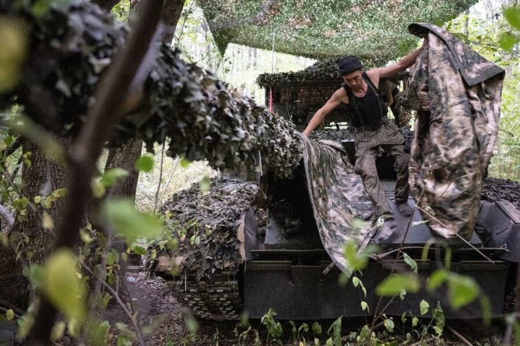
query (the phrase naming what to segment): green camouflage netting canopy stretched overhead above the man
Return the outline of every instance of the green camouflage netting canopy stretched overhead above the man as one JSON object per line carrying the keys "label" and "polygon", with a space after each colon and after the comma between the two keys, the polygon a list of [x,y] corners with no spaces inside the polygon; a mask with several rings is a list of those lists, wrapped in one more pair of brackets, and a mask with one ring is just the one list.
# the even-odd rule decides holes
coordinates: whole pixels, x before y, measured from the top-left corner
{"label": "green camouflage netting canopy stretched overhead above the man", "polygon": [[381,66],[416,39],[412,22],[443,23],[476,0],[199,0],[221,52],[228,43],[309,58],[354,54]]}

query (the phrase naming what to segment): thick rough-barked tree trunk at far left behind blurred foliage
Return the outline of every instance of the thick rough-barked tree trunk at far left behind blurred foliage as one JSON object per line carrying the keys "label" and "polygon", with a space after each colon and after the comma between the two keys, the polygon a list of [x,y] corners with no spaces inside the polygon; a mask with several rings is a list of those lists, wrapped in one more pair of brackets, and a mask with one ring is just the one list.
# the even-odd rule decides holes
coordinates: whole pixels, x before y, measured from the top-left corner
{"label": "thick rough-barked tree trunk at far left behind blurred foliage", "polygon": [[[70,140],[62,140],[62,143],[69,143]],[[47,160],[42,151],[33,143],[24,141],[23,153],[30,152],[29,159],[31,164],[24,162],[22,169],[22,190],[21,193],[36,206],[33,210],[27,206],[27,216],[25,220],[16,220],[10,232],[14,240],[10,243],[9,249],[2,251],[0,256],[0,297],[9,301],[19,308],[27,308],[29,301],[29,283],[23,276],[23,267],[31,263],[41,264],[47,258],[50,250],[50,243],[54,237],[49,231],[43,229],[42,214],[47,212],[56,221],[62,199],[58,199],[51,204],[50,208],[43,209],[38,203],[34,203],[36,196],[48,196],[58,188],[65,186],[66,170],[60,164]],[[41,199],[43,200],[43,199]],[[78,215],[78,217],[81,217]],[[23,242],[21,260],[16,260],[14,248],[27,236],[28,243]]]}

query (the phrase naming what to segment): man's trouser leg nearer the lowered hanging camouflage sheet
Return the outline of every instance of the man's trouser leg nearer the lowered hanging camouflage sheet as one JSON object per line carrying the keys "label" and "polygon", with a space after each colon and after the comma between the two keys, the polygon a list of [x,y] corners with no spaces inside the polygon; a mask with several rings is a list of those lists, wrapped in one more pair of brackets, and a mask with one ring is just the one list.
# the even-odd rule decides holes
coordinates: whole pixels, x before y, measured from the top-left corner
{"label": "man's trouser leg nearer the lowered hanging camouflage sheet", "polygon": [[377,158],[377,147],[358,148],[356,151],[355,173],[361,175],[366,193],[374,205],[377,217],[386,215],[392,217],[392,210],[386,200],[385,189],[379,182],[375,160]]}

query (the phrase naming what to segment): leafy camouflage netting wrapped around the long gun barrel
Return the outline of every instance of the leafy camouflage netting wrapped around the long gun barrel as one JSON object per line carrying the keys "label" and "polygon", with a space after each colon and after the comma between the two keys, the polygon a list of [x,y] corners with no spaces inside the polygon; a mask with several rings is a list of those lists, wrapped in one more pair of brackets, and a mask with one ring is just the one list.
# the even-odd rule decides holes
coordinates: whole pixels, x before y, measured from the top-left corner
{"label": "leafy camouflage netting wrapped around the long gun barrel", "polygon": [[[1,5],[0,5],[1,6]],[[0,13],[24,18],[30,49],[19,90],[0,95],[0,108],[12,97],[27,114],[60,134],[76,134],[84,121],[100,75],[123,44],[128,29],[113,16],[84,1],[54,3],[35,16],[29,9],[2,8]],[[182,61],[160,44],[159,55],[145,82],[145,104],[121,121],[111,136],[115,145],[143,138],[149,149],[174,135],[168,154],[205,157],[214,168],[237,171],[272,170],[285,177],[300,160],[294,125],[228,90],[213,73]],[[32,99],[46,112],[31,111]]]}

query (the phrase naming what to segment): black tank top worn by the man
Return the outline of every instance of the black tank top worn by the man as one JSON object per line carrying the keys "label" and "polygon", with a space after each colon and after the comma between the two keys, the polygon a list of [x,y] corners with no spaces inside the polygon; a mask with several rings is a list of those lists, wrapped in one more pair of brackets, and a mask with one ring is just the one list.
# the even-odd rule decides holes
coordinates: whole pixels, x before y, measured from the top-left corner
{"label": "black tank top worn by the man", "polygon": [[[379,90],[372,83],[368,75],[366,73],[362,74],[363,79],[366,84],[372,84],[373,88],[368,85],[366,90],[366,94],[364,97],[356,97],[351,88],[349,88],[345,83],[341,86],[345,89],[348,95],[348,104],[346,104],[346,112],[348,117],[350,118],[351,125],[354,127],[360,127],[365,125],[371,125],[377,123],[385,114],[383,112],[386,110],[386,105],[381,99],[381,95],[379,94]],[[374,92],[374,90],[377,92]],[[359,108],[359,115],[362,116],[362,119],[359,119],[357,111],[353,106],[352,97],[355,99],[355,104],[357,108]]]}

